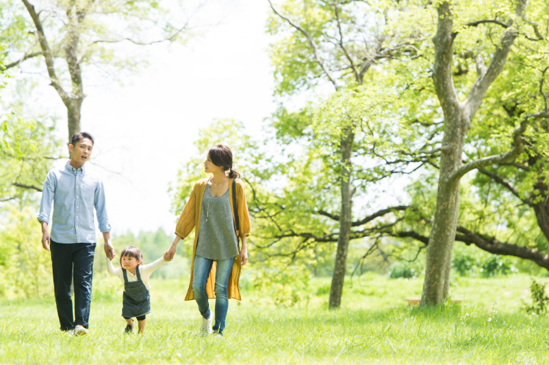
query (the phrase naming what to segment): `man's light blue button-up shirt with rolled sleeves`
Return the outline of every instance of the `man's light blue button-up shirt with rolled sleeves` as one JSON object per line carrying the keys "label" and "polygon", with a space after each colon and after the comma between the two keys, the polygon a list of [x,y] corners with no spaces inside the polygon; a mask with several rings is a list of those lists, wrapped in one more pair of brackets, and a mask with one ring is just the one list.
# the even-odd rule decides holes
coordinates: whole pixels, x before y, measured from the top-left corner
{"label": "man's light blue button-up shirt with rolled sleeves", "polygon": [[95,243],[94,207],[101,232],[110,232],[111,225],[105,207],[105,188],[85,164],[74,168],[68,162],[62,168],[49,171],[38,221],[49,225],[53,201],[51,240],[58,243]]}

